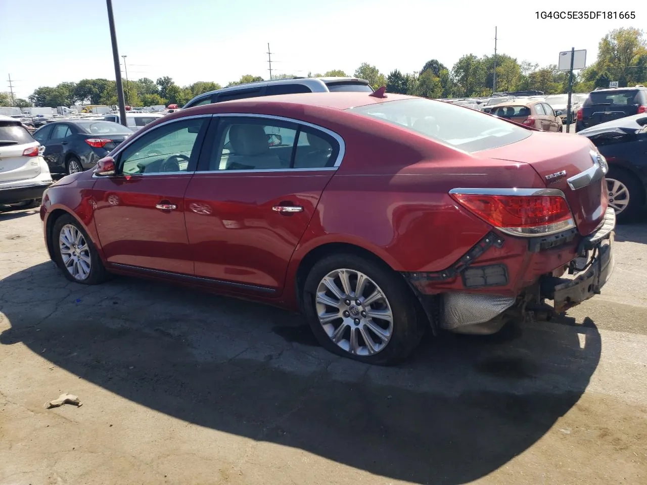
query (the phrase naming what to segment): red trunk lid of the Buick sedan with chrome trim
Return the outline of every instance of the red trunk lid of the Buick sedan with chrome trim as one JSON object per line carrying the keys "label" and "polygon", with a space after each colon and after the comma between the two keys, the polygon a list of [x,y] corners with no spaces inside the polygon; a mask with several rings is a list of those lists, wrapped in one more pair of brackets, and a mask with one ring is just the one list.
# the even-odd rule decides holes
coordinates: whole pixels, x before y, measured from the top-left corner
{"label": "red trunk lid of the Buick sedan with chrome trim", "polygon": [[564,192],[578,231],[587,235],[602,222],[608,205],[604,177],[576,189],[572,189],[567,180],[588,169],[593,170],[592,150],[595,151],[595,147],[584,136],[533,132],[525,140],[482,151],[479,155],[529,164],[547,188]]}

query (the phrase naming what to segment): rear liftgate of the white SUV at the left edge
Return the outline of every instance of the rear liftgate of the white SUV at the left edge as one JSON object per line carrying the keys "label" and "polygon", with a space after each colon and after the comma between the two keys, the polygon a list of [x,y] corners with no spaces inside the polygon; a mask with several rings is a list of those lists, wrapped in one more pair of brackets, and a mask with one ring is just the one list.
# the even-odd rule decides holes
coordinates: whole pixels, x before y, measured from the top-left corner
{"label": "rear liftgate of the white SUV at the left edge", "polygon": [[0,184],[40,175],[38,156],[23,156],[38,142],[19,121],[0,120]]}

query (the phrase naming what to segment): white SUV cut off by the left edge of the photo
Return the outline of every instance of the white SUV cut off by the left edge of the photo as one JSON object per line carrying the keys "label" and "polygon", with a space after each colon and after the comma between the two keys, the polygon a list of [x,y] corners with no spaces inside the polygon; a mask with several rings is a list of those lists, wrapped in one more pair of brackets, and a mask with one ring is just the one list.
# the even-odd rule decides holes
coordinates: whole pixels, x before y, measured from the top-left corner
{"label": "white SUV cut off by the left edge of the photo", "polygon": [[43,151],[20,120],[0,115],[0,211],[40,205],[52,184]]}

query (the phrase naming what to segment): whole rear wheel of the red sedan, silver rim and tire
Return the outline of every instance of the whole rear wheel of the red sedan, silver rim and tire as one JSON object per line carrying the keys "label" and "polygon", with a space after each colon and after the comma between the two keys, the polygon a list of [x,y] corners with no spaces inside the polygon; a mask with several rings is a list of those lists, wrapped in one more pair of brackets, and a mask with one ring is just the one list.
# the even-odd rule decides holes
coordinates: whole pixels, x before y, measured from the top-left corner
{"label": "whole rear wheel of the red sedan, silver rim and tire", "polygon": [[356,255],[330,255],[316,263],[303,299],[322,347],[353,360],[398,363],[415,349],[424,331],[404,279],[386,265]]}

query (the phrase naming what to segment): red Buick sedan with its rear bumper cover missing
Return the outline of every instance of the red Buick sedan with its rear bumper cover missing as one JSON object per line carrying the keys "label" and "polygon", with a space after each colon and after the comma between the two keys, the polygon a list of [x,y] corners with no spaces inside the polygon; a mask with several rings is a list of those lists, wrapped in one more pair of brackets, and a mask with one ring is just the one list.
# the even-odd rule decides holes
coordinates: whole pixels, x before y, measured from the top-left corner
{"label": "red Buick sedan with its rear bumper cover missing", "polygon": [[52,185],[41,219],[71,281],[139,275],[302,311],[323,347],[389,364],[428,328],[492,333],[599,293],[606,170],[583,136],[450,103],[289,94],[147,125]]}

